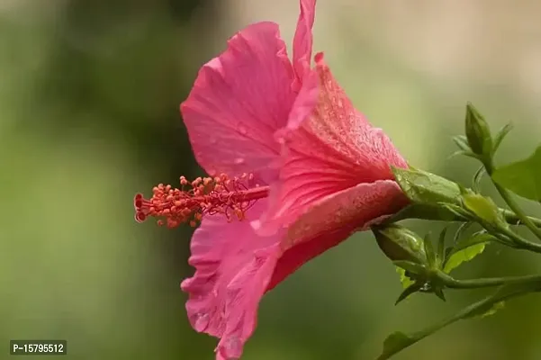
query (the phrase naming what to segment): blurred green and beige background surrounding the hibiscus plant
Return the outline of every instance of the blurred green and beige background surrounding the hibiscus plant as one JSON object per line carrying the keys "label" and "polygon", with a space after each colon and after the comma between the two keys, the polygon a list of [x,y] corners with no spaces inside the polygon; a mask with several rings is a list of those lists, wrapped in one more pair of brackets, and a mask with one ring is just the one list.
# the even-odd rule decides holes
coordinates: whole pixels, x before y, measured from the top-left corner
{"label": "blurred green and beige background surrounding the hibiscus plant", "polygon": [[[540,12],[527,0],[320,0],[315,49],[412,165],[469,184],[476,164],[448,158],[466,101],[493,129],[515,122],[501,162],[540,138]],[[10,338],[65,338],[71,359],[213,359],[179,290],[190,229],[137,224],[132,196],[202,175],[178,113],[198,68],[248,23],[280,23],[291,44],[297,14],[294,0],[0,0],[0,358]],[[540,265],[490,247],[456,274]],[[371,234],[357,234],[266,295],[243,358],[373,359],[392,331],[482,296],[395,307],[400,292]],[[540,301],[459,322],[396,359],[540,359]]]}

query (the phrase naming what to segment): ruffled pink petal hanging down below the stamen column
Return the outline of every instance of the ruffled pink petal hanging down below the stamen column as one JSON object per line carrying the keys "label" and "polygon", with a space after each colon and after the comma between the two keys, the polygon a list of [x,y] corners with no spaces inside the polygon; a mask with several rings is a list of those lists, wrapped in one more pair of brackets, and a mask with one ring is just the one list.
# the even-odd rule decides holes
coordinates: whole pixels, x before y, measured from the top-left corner
{"label": "ruffled pink petal hanging down below the stamen column", "polygon": [[[257,218],[266,201],[248,211]],[[189,293],[186,311],[192,327],[221,341],[217,359],[238,358],[256,327],[257,306],[280,256],[280,235],[258,237],[248,221],[227,222],[224,217],[203,219],[191,242],[195,267],[181,288]]]}

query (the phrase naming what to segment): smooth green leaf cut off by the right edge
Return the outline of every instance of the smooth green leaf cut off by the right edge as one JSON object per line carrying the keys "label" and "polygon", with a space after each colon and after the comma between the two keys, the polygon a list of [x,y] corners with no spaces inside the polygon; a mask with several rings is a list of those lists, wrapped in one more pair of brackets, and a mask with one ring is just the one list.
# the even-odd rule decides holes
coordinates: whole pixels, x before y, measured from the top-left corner
{"label": "smooth green leaf cut off by the right edge", "polygon": [[541,202],[541,146],[524,160],[498,167],[492,180],[519,196]]}

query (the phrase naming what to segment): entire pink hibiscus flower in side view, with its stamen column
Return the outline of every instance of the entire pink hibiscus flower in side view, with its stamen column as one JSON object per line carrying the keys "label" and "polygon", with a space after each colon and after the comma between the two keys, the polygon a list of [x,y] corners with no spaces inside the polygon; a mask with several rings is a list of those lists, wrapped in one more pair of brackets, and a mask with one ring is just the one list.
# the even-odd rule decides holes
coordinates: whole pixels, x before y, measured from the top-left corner
{"label": "entire pink hibiscus flower in side view, with its stamen column", "polygon": [[408,202],[391,166],[405,160],[357,112],[323,60],[311,67],[315,0],[301,0],[287,57],[276,23],[239,31],[205,64],[180,110],[211,175],[137,194],[136,219],[200,223],[192,238],[186,310],[195,330],[236,359],[262,296],[302,264]]}

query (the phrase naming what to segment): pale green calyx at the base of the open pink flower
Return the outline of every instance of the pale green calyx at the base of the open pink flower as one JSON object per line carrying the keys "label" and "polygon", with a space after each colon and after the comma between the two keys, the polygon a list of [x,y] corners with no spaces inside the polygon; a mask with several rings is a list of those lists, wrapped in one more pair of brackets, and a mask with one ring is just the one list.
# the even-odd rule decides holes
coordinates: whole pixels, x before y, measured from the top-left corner
{"label": "pale green calyx at the base of the open pink flower", "polygon": [[411,202],[432,205],[440,202],[460,204],[460,187],[445,177],[400,167],[392,167],[392,173]]}

